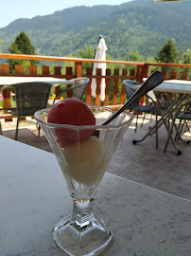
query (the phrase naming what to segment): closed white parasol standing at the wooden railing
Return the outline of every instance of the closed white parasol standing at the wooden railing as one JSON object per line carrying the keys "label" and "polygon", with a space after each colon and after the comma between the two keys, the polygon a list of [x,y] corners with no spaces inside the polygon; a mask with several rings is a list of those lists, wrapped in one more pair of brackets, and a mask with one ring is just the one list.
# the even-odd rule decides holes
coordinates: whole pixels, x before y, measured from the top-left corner
{"label": "closed white parasol standing at the wooden railing", "polygon": [[[102,35],[99,36],[98,43],[96,46],[96,54],[95,60],[106,61],[106,50],[108,47],[106,46],[105,40]],[[101,68],[101,75],[106,75],[106,64],[104,63],[96,63],[93,67],[93,76],[96,76],[96,68]],[[100,83],[100,101],[105,100],[105,79],[101,79]],[[91,84],[92,96],[96,98],[96,79],[92,80]]]}

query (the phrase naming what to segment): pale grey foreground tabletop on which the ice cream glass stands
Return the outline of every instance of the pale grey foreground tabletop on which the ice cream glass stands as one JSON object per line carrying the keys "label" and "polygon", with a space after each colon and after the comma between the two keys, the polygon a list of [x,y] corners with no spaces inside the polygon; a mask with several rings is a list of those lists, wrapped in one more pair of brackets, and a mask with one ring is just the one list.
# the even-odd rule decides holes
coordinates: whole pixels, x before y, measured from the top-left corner
{"label": "pale grey foreground tabletop on which the ice cream glass stands", "polygon": [[[66,255],[51,234],[72,210],[55,155],[0,136],[0,157],[0,255]],[[108,173],[96,197],[113,230],[98,255],[191,255],[190,201]]]}

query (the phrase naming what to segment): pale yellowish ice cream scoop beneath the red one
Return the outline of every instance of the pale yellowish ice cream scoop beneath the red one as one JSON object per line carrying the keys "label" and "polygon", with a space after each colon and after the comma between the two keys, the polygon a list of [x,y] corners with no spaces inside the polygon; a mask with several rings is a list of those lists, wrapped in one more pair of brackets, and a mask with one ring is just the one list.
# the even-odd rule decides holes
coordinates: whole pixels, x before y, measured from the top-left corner
{"label": "pale yellowish ice cream scoop beneath the red one", "polygon": [[92,186],[102,178],[107,167],[102,154],[103,146],[97,137],[69,144],[63,150],[66,160],[63,172],[78,183]]}

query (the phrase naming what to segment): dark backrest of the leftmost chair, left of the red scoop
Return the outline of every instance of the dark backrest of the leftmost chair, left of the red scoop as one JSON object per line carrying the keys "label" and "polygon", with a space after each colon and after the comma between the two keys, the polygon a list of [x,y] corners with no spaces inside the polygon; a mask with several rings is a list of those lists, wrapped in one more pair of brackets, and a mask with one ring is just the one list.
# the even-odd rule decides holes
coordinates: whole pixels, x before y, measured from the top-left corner
{"label": "dark backrest of the leftmost chair, left of the red scoop", "polygon": [[46,108],[51,83],[21,82],[12,84],[15,90],[18,116],[32,116],[37,110]]}

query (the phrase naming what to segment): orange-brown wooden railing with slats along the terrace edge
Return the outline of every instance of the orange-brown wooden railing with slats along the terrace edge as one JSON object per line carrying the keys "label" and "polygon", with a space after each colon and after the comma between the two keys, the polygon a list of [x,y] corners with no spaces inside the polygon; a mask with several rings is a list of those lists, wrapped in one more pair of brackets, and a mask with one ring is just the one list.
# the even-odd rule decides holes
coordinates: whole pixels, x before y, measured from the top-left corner
{"label": "orange-brown wooden railing with slats along the terrace edge", "polygon": [[[15,65],[15,72],[10,73],[9,64],[0,64],[0,76],[25,76],[25,77],[35,77],[35,76],[50,76],[56,78],[63,78],[66,80],[78,77],[88,77],[90,82],[86,90],[86,103],[96,104],[96,105],[111,105],[113,108],[118,108],[120,104],[123,104],[125,99],[125,89],[123,87],[122,81],[125,79],[135,80],[137,82],[142,82],[144,77],[148,77],[151,71],[159,68],[186,68],[189,72],[182,71],[162,71],[165,76],[165,80],[180,79],[180,80],[190,80],[189,77],[191,64],[156,64],[156,63],[137,63],[137,62],[125,62],[125,61],[96,61],[93,59],[79,59],[79,58],[68,58],[68,57],[53,57],[53,56],[37,56],[37,55],[20,55],[20,54],[7,54],[0,53],[0,59],[22,59],[22,60],[36,60],[45,62],[61,63],[59,66],[53,67],[53,72],[50,72],[50,66],[52,70],[53,64],[43,65],[41,71],[39,72],[39,67],[36,65],[30,65],[28,67],[28,72],[25,73],[24,66],[21,64]],[[73,63],[74,67],[67,66],[67,63]],[[96,76],[93,76],[93,68],[83,68],[83,64],[94,64],[94,63],[106,63],[110,65],[117,65],[122,68],[107,68],[106,75],[101,76],[101,69],[96,69]],[[62,68],[64,64],[64,70]],[[69,65],[69,64],[68,64]],[[113,74],[112,74],[113,72]],[[96,79],[96,99],[91,97],[91,81]],[[101,102],[99,100],[100,96],[100,82],[101,79],[106,80],[105,89],[105,101]],[[68,85],[70,86],[70,85]],[[56,94],[59,88],[57,88]],[[4,95],[7,99],[10,97],[7,92]],[[93,102],[94,101],[94,102]],[[144,101],[142,99],[142,101]]]}

